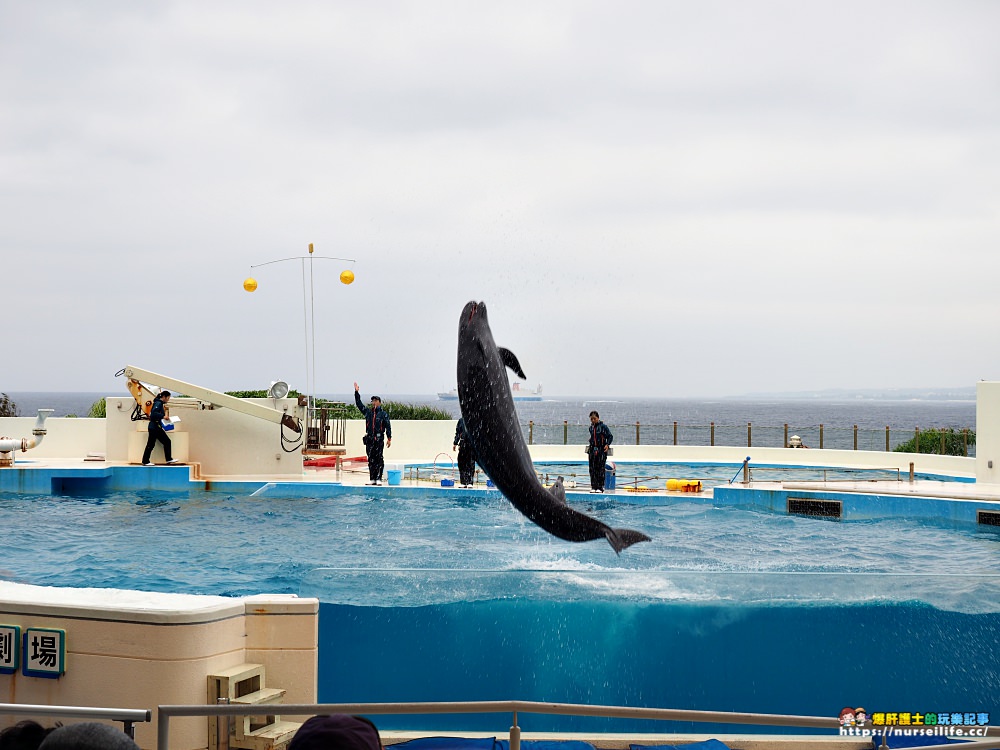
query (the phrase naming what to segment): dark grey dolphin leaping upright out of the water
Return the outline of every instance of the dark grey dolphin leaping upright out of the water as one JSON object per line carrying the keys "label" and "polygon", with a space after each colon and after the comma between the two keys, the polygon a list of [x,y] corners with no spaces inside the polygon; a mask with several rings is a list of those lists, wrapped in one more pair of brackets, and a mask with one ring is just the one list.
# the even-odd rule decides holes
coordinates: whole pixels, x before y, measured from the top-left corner
{"label": "dark grey dolphin leaping upright out of the water", "polygon": [[636,542],[650,541],[639,531],[612,529],[567,506],[562,481],[552,490],[542,486],[514,411],[507,367],[525,379],[513,352],[493,340],[486,305],[469,302],[458,322],[458,401],[476,461],[497,489],[530,520],[568,542],[604,537],[620,554]]}

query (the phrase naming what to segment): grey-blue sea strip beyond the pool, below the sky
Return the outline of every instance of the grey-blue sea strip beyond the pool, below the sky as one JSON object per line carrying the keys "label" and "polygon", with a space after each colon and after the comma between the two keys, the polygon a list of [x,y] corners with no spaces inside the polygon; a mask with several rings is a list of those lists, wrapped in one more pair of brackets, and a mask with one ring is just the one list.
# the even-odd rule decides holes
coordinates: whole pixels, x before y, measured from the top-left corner
{"label": "grey-blue sea strip beyond the pool, below the sky", "polygon": [[[365,398],[371,395],[362,391]],[[435,407],[454,419],[461,416],[458,401],[439,400],[436,394],[379,395],[387,401]],[[22,417],[32,417],[40,408],[54,409],[54,417],[85,417],[93,403],[108,394],[14,391],[8,396]],[[353,392],[321,397],[354,401]],[[519,401],[516,409],[525,439],[548,444],[586,442],[591,410],[601,415],[619,445],[710,445],[714,440],[715,445],[780,446],[798,435],[813,448],[885,450],[887,429],[890,449],[913,438],[916,430],[976,429],[974,400],[551,396]],[[973,445],[969,455],[974,453]]]}

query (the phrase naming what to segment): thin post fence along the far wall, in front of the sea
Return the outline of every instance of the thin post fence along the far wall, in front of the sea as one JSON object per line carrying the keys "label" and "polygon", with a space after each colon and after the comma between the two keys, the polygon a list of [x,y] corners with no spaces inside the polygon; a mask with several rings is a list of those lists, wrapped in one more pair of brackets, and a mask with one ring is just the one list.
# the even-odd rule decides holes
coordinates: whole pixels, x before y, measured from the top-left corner
{"label": "thin post fence along the far wall, in front of the sea", "polygon": [[[957,435],[962,439],[962,455],[975,455],[975,431],[971,428],[927,428],[912,429],[859,427],[828,427],[819,425],[760,425],[746,422],[741,424],[707,425],[679,422],[668,424],[634,422],[628,424],[609,424],[618,445],[725,445],[733,447],[777,447],[789,448],[790,438],[798,436],[803,447],[829,448],[840,450],[867,450],[891,452],[894,443],[901,444],[915,439],[920,445],[921,436],[928,433],[936,434],[935,452],[944,454],[950,439]],[[522,425],[521,430],[529,445],[584,445],[589,439],[589,425],[570,424],[564,420],[562,424],[543,424],[529,421]],[[972,453],[970,454],[970,449]]]}

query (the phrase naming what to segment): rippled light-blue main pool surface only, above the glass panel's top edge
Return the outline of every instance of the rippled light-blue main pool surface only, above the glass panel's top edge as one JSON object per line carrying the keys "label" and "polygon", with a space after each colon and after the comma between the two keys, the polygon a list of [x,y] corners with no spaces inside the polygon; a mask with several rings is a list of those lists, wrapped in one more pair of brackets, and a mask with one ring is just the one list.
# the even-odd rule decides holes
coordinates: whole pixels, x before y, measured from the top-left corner
{"label": "rippled light-blue main pool surface only, above the glass panel's top edge", "polygon": [[[997,572],[1000,554],[996,527],[831,521],[684,495],[644,505],[577,495],[585,498],[573,500],[577,509],[652,537],[619,557],[603,541],[573,544],[546,534],[498,492],[477,495],[0,493],[0,568],[6,578],[45,585],[241,595],[298,593],[317,568],[965,575]],[[337,593],[344,603],[366,601],[351,596]]]}

